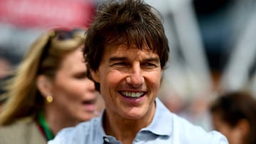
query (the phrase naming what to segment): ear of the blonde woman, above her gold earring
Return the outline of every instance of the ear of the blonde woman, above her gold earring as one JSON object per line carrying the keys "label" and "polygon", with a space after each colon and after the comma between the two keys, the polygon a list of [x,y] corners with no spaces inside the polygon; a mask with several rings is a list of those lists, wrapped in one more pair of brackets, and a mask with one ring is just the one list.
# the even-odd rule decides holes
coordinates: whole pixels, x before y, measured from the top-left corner
{"label": "ear of the blonde woman, above her gold earring", "polygon": [[48,77],[46,77],[45,75],[41,74],[37,77],[36,79],[36,87],[38,87],[39,92],[41,92],[41,94],[43,96],[49,96],[52,95],[51,92],[51,81],[50,79],[48,79]]}

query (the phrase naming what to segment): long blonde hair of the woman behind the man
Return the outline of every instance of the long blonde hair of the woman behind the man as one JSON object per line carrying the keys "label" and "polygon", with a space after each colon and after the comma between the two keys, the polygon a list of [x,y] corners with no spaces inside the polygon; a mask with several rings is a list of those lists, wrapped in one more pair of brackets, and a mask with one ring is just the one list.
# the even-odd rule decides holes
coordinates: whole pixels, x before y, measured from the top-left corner
{"label": "long blonde hair of the woman behind the man", "polygon": [[0,113],[1,125],[33,116],[42,109],[45,101],[36,87],[38,75],[43,74],[49,79],[54,79],[63,57],[80,48],[85,42],[84,31],[63,32],[70,33],[70,38],[61,40],[61,35],[58,35],[56,30],[48,31],[28,49],[21,64],[14,71],[14,77],[6,83],[4,96],[8,97],[8,101]]}

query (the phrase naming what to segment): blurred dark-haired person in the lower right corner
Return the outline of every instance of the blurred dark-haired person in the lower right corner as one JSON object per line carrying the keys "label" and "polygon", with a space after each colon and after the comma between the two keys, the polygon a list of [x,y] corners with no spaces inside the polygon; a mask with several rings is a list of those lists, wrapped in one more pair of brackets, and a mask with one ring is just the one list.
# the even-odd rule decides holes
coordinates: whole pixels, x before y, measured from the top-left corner
{"label": "blurred dark-haired person in the lower right corner", "polygon": [[213,127],[230,144],[256,143],[256,100],[250,93],[237,91],[219,96],[210,106]]}

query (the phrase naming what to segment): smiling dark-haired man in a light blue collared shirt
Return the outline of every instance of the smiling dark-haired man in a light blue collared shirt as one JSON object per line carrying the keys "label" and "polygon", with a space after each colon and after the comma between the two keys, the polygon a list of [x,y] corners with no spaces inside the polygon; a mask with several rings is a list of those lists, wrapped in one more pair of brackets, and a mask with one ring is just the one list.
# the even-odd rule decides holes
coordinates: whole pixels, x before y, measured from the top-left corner
{"label": "smiling dark-haired man in a light blue collared shirt", "polygon": [[85,60],[105,100],[100,118],[49,142],[87,144],[228,143],[171,113],[156,98],[169,57],[159,13],[140,0],[108,1],[87,31]]}

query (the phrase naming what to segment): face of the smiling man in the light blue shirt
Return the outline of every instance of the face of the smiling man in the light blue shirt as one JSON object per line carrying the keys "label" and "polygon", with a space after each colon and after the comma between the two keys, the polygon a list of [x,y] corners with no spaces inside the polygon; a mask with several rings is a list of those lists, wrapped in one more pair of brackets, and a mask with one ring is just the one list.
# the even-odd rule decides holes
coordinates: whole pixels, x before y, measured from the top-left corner
{"label": "face of the smiling man in the light blue shirt", "polygon": [[126,119],[154,113],[161,75],[156,53],[126,45],[107,48],[99,69],[92,72],[93,79],[100,82],[107,113]]}

